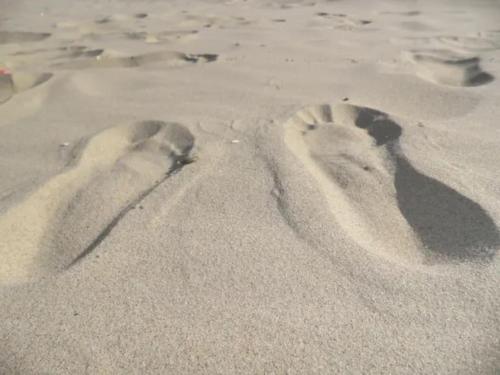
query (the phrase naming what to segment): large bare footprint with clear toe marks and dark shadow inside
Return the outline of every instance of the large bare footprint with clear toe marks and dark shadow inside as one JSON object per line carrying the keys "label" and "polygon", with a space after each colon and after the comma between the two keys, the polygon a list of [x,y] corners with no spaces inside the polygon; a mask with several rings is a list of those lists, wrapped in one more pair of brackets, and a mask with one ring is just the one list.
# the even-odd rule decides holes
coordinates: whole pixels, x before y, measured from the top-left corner
{"label": "large bare footprint with clear toe marks and dark shadow inside", "polygon": [[403,263],[489,261],[499,231],[485,210],[416,170],[387,114],[349,104],[299,111],[285,141],[361,247]]}

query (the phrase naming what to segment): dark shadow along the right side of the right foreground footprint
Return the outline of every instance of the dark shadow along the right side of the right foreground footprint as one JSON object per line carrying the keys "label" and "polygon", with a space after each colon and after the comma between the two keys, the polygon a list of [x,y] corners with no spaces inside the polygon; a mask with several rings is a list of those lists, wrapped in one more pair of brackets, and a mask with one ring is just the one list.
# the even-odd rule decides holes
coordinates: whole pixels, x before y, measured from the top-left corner
{"label": "dark shadow along the right side of the right foreground footprint", "polygon": [[365,108],[356,126],[386,148],[395,167],[399,209],[436,260],[493,258],[500,246],[495,222],[479,204],[411,165],[399,148],[402,129],[398,124],[382,112]]}

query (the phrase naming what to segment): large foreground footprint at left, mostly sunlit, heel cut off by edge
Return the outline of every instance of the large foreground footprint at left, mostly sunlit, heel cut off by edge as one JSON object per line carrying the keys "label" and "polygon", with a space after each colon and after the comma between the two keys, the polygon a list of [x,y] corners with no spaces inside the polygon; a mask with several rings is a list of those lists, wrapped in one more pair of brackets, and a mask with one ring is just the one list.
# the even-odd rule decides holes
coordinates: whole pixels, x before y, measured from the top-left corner
{"label": "large foreground footprint at left, mostly sunlit, heel cut off by edge", "polygon": [[0,283],[62,271],[96,248],[127,212],[193,159],[176,123],[117,126],[82,141],[62,173],[0,217]]}

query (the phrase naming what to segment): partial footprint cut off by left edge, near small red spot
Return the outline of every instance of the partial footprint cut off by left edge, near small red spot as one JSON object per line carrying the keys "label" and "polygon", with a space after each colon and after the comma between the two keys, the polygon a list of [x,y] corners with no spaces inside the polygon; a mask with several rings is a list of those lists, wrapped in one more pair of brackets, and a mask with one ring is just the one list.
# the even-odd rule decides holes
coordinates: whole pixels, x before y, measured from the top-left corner
{"label": "partial footprint cut off by left edge, near small red spot", "polygon": [[10,73],[0,70],[0,104],[17,93],[41,85],[52,77],[51,73]]}

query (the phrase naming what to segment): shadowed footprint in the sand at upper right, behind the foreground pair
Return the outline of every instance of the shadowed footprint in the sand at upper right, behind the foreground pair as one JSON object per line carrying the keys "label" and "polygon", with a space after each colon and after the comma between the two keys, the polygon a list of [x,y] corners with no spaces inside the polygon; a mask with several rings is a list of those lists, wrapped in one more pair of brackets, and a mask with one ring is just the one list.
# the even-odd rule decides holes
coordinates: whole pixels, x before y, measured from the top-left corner
{"label": "shadowed footprint in the sand at upper right, behind the foreground pair", "polygon": [[484,85],[494,77],[484,72],[477,56],[463,56],[446,50],[411,51],[406,54],[419,77],[443,85]]}

